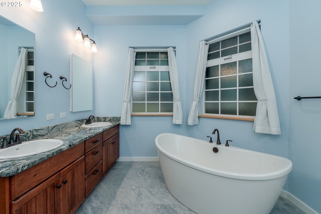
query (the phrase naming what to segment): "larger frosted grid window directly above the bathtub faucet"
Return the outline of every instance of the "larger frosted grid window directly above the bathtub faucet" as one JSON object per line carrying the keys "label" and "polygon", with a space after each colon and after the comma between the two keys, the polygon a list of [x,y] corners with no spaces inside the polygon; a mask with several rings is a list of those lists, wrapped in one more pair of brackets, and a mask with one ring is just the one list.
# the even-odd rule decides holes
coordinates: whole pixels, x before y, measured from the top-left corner
{"label": "larger frosted grid window directly above the bathtub faucet", "polygon": [[204,85],[205,114],[254,118],[250,32],[210,44]]}

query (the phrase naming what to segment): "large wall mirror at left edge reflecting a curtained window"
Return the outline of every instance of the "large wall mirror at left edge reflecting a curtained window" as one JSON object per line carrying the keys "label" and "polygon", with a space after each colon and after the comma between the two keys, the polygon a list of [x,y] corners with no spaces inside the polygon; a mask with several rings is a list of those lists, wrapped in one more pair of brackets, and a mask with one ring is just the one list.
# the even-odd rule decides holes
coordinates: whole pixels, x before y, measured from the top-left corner
{"label": "large wall mirror at left edge reflecting a curtained window", "polygon": [[[2,16],[0,16],[0,32],[0,50],[2,50],[0,52],[0,119],[34,116],[35,34]],[[17,73],[15,68],[21,48],[27,49],[21,56],[25,60],[20,61],[25,62],[25,65],[21,66],[20,73]],[[21,81],[17,81],[17,74]],[[12,83],[13,76],[16,81]]]}

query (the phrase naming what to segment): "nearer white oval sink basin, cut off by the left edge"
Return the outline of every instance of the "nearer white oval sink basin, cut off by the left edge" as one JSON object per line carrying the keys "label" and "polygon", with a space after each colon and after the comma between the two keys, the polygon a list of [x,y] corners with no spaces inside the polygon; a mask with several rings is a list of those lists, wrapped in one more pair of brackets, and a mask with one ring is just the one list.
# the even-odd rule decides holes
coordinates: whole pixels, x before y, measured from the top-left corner
{"label": "nearer white oval sink basin, cut off by the left edge", "polygon": [[57,139],[42,139],[24,141],[21,144],[0,149],[0,159],[25,157],[32,154],[39,154],[58,148],[64,141]]}

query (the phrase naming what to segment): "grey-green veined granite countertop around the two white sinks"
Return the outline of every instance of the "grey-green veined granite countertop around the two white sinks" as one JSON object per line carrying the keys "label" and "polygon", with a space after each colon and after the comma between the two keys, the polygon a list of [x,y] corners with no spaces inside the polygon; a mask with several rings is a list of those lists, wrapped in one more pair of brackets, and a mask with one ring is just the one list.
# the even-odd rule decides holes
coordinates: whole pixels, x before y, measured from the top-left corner
{"label": "grey-green veined granite countertop around the two white sinks", "polygon": [[67,150],[74,145],[83,142],[105,130],[108,130],[118,124],[119,117],[96,117],[97,122],[110,122],[111,125],[99,128],[84,128],[81,126],[84,120],[58,124],[54,126],[43,127],[39,129],[27,130],[25,134],[21,134],[22,141],[35,139],[59,139],[64,144],[51,151],[34,154],[26,157],[0,159],[0,177],[8,177],[25,169],[28,169],[62,151]]}

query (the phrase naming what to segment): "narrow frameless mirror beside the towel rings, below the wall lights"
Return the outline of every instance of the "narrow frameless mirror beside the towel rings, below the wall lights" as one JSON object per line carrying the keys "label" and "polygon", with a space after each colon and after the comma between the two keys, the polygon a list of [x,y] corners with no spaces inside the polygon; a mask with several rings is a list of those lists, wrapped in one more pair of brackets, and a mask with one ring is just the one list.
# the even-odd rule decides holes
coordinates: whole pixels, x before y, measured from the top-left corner
{"label": "narrow frameless mirror beside the towel rings, below the wall lights", "polygon": [[92,110],[92,64],[72,54],[70,81],[70,111]]}

